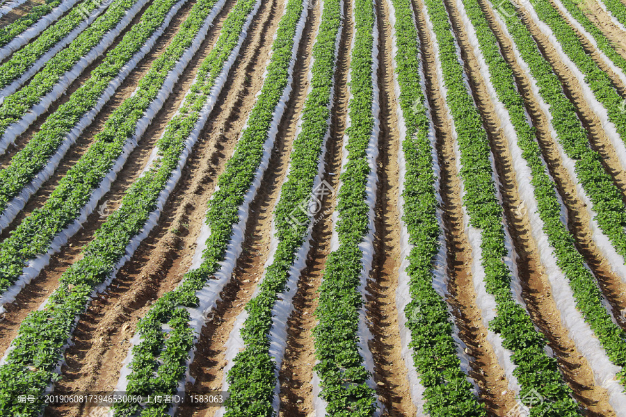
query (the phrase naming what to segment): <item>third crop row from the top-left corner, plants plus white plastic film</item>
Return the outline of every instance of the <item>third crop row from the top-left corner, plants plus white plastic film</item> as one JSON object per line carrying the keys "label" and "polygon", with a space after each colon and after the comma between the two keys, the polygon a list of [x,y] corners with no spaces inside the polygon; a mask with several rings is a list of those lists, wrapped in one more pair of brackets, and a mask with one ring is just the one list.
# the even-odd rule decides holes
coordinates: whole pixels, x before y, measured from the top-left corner
{"label": "third crop row from the top-left corner, plants plus white plastic film", "polygon": [[[106,12],[72,43],[50,58],[29,83],[5,97],[0,106],[0,152],[4,152],[15,136],[26,130],[35,117],[50,106],[52,99],[60,97],[62,91],[58,91],[58,87],[55,89],[55,86],[60,85],[65,90],[97,55],[113,43],[115,36],[131,22],[145,3],[147,0],[114,0]],[[156,23],[160,12],[151,6],[150,13],[148,10],[147,15],[144,13],[142,26]],[[113,31],[113,28],[117,30]],[[51,99],[47,95],[52,95]]]}

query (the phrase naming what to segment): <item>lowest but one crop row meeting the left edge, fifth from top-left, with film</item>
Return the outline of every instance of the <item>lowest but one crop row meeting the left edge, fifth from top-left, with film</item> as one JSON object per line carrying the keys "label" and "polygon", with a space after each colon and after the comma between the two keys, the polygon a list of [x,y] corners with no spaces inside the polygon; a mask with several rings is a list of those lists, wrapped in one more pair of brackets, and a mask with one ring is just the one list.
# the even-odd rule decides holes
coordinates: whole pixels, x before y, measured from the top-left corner
{"label": "lowest but one crop row meeting the left edge, fifth from top-left, with film", "polygon": [[[182,4],[182,1],[176,5],[174,2],[175,0],[154,1],[143,15],[147,23],[135,25],[128,33],[129,40],[145,40],[166,19],[169,21],[176,13],[177,6]],[[211,5],[213,3],[214,1],[209,2]],[[74,234],[81,222],[93,211],[95,203],[115,179],[115,172],[121,169],[147,124],[163,106],[182,68],[198,49],[200,42],[196,35],[209,11],[210,8],[196,10],[193,19],[182,25],[166,51],[152,63],[150,70],[141,79],[134,95],[115,109],[104,124],[104,129],[95,136],[93,145],[67,171],[45,204],[33,210],[0,243],[0,291],[6,291],[15,281],[28,281],[36,275],[43,265],[41,259],[35,258],[56,252],[58,246],[65,243],[68,236]],[[204,38],[205,33],[201,38]],[[125,44],[122,48],[128,46],[129,44]],[[66,113],[63,111],[59,113],[56,119],[59,124],[53,124],[50,130],[65,127],[64,114]],[[45,146],[45,139],[43,142],[42,145]],[[13,165],[15,164],[11,166]],[[70,231],[67,231],[68,227]]]}

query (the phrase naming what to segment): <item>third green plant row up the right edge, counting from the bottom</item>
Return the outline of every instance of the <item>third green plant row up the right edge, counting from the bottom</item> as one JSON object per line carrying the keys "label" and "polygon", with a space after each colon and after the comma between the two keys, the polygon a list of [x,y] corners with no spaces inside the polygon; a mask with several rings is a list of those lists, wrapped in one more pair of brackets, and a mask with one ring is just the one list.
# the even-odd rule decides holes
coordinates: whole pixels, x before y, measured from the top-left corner
{"label": "third green plant row up the right edge, counting from the bottom", "polygon": [[[552,29],[552,33],[561,44],[563,52],[584,74],[585,82],[593,90],[597,101],[600,101],[607,110],[609,120],[615,124],[620,137],[626,143],[626,113],[621,111],[623,99],[611,83],[608,74],[602,71],[600,66],[591,58],[591,55],[586,53],[576,32],[559,15],[549,0],[533,0],[532,4],[539,19]],[[622,253],[626,254],[626,238],[620,245],[622,246]]]}

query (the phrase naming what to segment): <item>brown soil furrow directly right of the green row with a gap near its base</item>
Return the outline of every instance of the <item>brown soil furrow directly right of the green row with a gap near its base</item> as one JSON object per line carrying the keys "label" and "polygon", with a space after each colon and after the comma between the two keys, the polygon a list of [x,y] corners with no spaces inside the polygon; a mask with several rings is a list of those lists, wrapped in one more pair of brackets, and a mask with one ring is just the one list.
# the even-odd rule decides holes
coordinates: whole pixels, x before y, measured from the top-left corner
{"label": "brown soil furrow directly right of the green row with a gap near its base", "polygon": [[[294,67],[291,95],[287,101],[287,111],[278,125],[274,148],[269,165],[263,175],[255,199],[250,204],[250,213],[246,224],[243,252],[233,275],[226,284],[221,300],[212,311],[213,320],[202,328],[197,344],[195,358],[191,363],[191,375],[195,383],[187,384],[188,390],[220,391],[225,378],[227,365],[225,350],[231,332],[236,332],[236,318],[243,312],[244,306],[252,298],[255,287],[263,276],[268,260],[271,243],[271,222],[275,204],[280,196],[280,188],[287,174],[291,145],[296,136],[298,117],[305,103],[309,81],[307,75],[311,63],[311,51],[320,21],[320,2],[310,3],[309,15]],[[282,11],[282,8],[279,8]],[[243,346],[241,346],[243,348]],[[212,416],[216,407],[182,408],[179,416]]]}

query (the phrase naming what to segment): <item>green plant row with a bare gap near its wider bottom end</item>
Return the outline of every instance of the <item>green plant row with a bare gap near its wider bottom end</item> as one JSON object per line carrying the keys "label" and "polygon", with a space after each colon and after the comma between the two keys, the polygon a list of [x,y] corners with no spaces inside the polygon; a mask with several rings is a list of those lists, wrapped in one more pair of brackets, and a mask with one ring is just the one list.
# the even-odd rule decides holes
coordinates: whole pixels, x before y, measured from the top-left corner
{"label": "green plant row with a bare gap near its wider bottom end", "polygon": [[[252,8],[254,3],[255,1],[240,0],[236,6],[237,13]],[[227,162],[225,171],[218,177],[216,191],[209,202],[207,224],[211,233],[206,241],[206,249],[202,252],[202,262],[198,268],[186,273],[175,290],[154,302],[150,311],[136,327],[140,342],[131,350],[132,359],[129,363],[131,373],[126,379],[126,391],[129,394],[171,395],[177,391],[184,378],[198,334],[190,325],[190,311],[183,307],[198,309],[200,299],[197,293],[210,286],[211,281],[216,278],[222,266],[220,262],[225,260],[234,228],[241,221],[239,212],[247,209],[246,195],[250,193],[252,183],[258,175],[266,153],[266,143],[273,141],[270,137],[271,127],[280,122],[274,118],[280,118],[278,106],[281,106],[282,97],[291,79],[290,72],[294,67],[299,43],[296,43],[296,39],[300,39],[304,28],[305,4],[302,0],[289,0],[285,6],[272,44],[271,58],[266,68],[262,89],[250,111],[246,128],[241,132],[234,154]],[[229,38],[235,38],[240,30],[241,24],[236,28],[236,33],[233,31]],[[279,116],[275,116],[275,113]],[[163,325],[167,326],[166,332]],[[260,381],[257,384],[262,386],[268,384],[266,381],[268,375],[273,377],[268,366],[271,366],[271,363],[262,361],[259,357],[258,361],[250,363],[245,372],[259,377]],[[245,389],[252,391],[255,386],[246,386]],[[232,394],[239,400],[242,399],[238,393]],[[252,404],[244,403],[248,400]],[[258,398],[232,400],[228,404],[231,416],[271,415],[268,402],[260,391]],[[152,413],[161,415],[166,413],[169,406],[170,404],[153,404],[141,410],[141,413],[145,416],[152,416]],[[243,407],[246,410],[245,414],[240,414],[238,407]],[[131,416],[138,411],[140,409],[136,404],[118,404],[116,413],[120,416]]]}

